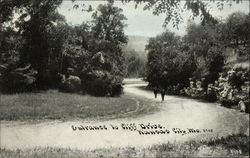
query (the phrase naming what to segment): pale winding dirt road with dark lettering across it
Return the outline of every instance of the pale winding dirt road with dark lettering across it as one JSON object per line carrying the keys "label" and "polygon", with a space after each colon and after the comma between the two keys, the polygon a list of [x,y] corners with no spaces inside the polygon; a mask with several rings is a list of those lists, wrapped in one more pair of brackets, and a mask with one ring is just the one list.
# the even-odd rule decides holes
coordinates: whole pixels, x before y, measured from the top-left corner
{"label": "pale winding dirt road with dark lettering across it", "polygon": [[[161,102],[160,96],[154,99],[152,92],[142,90],[138,86],[145,83],[125,85],[125,93],[139,95],[155,102],[160,102],[160,110],[149,115],[135,118],[122,118],[110,121],[78,121],[78,122],[44,122],[28,124],[20,122],[1,122],[1,148],[33,148],[70,147],[78,149],[95,149],[110,147],[147,147],[168,141],[185,141],[190,139],[208,139],[236,133],[247,133],[249,115],[236,110],[227,109],[214,103],[203,103],[193,99],[166,96]],[[122,123],[134,123],[137,130],[124,130]],[[162,129],[143,130],[143,125],[160,124]],[[107,130],[73,130],[73,127],[104,126]],[[117,126],[118,130],[112,126]],[[134,126],[133,126],[134,127]],[[178,128],[180,130],[173,130]],[[198,129],[200,133],[188,133],[187,128]],[[139,134],[141,131],[169,130],[169,134]],[[207,131],[206,131],[207,129]],[[177,131],[186,131],[181,134]],[[177,133],[175,133],[175,132]]]}

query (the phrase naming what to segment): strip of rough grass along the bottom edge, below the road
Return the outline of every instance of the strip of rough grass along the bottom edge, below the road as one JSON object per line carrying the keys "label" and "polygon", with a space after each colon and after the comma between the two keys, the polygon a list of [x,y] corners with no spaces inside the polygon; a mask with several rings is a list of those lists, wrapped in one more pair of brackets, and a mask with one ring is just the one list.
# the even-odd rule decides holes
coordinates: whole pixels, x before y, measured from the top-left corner
{"label": "strip of rough grass along the bottom edge, below the road", "polygon": [[63,148],[34,148],[28,150],[0,149],[3,158],[81,158],[81,157],[244,157],[249,155],[249,137],[232,135],[210,141],[158,144],[149,148],[134,147],[81,151]]}

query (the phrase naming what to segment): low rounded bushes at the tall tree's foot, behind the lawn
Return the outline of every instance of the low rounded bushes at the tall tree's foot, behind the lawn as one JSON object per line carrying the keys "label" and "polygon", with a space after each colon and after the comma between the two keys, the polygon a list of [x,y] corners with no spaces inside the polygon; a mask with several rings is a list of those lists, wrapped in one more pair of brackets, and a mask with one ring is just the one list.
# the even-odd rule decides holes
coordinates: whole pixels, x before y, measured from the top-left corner
{"label": "low rounded bushes at the tall tree's foot, behind the lawn", "polygon": [[109,62],[103,54],[103,52],[95,53],[89,59],[89,63],[78,72],[68,68],[65,75],[58,74],[58,78],[61,81],[60,91],[70,93],[82,92],[83,94],[88,93],[94,96],[111,97],[122,94],[123,77],[114,74],[119,72],[118,68]]}

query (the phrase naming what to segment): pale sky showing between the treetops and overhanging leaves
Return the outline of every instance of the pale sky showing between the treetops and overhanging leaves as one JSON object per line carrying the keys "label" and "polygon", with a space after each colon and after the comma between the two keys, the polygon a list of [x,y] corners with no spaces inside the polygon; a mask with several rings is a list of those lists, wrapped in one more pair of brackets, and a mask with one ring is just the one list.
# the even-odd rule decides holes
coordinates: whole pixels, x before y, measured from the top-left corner
{"label": "pale sky showing between the treetops and overhanging leaves", "polygon": [[[77,1],[76,4],[85,5],[88,8],[89,5],[95,9],[99,4],[105,4],[106,1]],[[184,1],[181,3],[184,4]],[[231,7],[229,5],[225,5],[223,10],[219,10],[216,7],[216,2],[207,2],[210,6],[211,14],[219,19],[225,20],[228,15],[233,12],[241,11],[244,13],[249,13],[249,1],[243,0],[239,4],[234,4]],[[182,13],[183,22],[179,25],[179,29],[173,28],[171,24],[167,25],[166,28],[162,26],[165,15],[161,14],[159,16],[155,16],[152,14],[151,10],[143,10],[143,6],[139,5],[135,9],[134,2],[122,3],[121,1],[115,1],[115,6],[118,6],[123,9],[123,14],[127,17],[127,27],[125,28],[126,35],[135,35],[135,36],[146,36],[146,37],[154,37],[162,32],[165,29],[175,32],[178,35],[184,35],[186,33],[186,27],[188,20],[190,19],[191,12],[185,11]],[[81,11],[81,9],[73,9],[74,4],[70,0],[65,0],[60,8],[58,9],[59,13],[65,16],[68,23],[72,25],[79,25],[83,21],[91,21],[91,15],[93,12]],[[196,23],[199,23],[199,19],[195,19]]]}

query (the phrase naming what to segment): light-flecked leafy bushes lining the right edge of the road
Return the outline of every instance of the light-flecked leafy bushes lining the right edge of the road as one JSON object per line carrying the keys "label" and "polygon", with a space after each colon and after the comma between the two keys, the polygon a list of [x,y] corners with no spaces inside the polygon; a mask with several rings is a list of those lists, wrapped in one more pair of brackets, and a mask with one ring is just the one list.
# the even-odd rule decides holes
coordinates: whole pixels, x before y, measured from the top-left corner
{"label": "light-flecked leafy bushes lining the right edge of the road", "polygon": [[192,98],[208,101],[218,101],[223,106],[231,107],[243,102],[249,112],[249,69],[234,67],[227,73],[220,73],[220,77],[213,84],[203,87],[202,81],[190,81],[190,85],[180,94]]}

